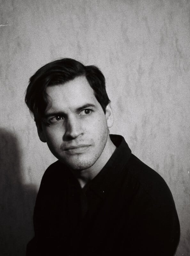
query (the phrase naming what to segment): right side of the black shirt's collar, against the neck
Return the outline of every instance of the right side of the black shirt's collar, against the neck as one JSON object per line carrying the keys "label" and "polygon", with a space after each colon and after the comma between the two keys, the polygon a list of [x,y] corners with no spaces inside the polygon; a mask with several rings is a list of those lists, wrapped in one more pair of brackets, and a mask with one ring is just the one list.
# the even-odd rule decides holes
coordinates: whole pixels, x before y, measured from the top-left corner
{"label": "right side of the black shirt's collar, against the neck", "polygon": [[101,198],[104,198],[111,189],[131,156],[131,149],[121,135],[110,134],[110,139],[116,149],[103,169],[89,182],[87,188],[87,190],[93,190]]}

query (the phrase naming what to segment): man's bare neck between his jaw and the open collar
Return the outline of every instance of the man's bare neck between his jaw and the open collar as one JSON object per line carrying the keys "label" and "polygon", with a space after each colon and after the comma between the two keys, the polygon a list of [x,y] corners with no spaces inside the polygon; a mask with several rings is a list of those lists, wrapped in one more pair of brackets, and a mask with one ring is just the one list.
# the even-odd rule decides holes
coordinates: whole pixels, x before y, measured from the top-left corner
{"label": "man's bare neck between his jaw and the open collar", "polygon": [[107,161],[110,159],[110,157],[114,153],[115,148],[116,148],[115,145],[110,140],[110,137],[108,135],[106,146],[102,151],[101,156],[96,161],[96,163],[93,164],[88,169],[81,170],[80,172],[73,172],[73,174],[79,181],[82,188],[102,170],[102,168],[105,166]]}

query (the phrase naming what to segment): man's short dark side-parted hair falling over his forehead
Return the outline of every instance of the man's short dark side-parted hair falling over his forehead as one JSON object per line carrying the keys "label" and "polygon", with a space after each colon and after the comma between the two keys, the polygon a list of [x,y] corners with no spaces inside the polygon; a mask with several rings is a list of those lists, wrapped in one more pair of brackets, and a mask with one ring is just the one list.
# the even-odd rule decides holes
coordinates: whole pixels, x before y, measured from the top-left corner
{"label": "man's short dark side-parted hair falling over his forehead", "polygon": [[30,77],[26,90],[25,102],[34,115],[34,120],[39,123],[43,120],[48,104],[47,86],[64,84],[75,77],[85,76],[94,95],[101,105],[104,113],[110,102],[105,85],[105,77],[96,66],[84,66],[81,62],[64,58],[52,61]]}

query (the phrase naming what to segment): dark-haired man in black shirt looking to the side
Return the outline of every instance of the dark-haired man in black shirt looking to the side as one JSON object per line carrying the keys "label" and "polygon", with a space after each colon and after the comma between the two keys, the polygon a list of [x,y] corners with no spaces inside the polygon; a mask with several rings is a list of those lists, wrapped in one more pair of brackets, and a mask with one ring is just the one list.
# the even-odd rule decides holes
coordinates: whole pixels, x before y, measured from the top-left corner
{"label": "dark-haired man in black shirt looking to the side", "polygon": [[31,78],[25,101],[58,161],[44,173],[27,255],[173,255],[179,240],[165,181],[120,135],[95,66],[61,59]]}

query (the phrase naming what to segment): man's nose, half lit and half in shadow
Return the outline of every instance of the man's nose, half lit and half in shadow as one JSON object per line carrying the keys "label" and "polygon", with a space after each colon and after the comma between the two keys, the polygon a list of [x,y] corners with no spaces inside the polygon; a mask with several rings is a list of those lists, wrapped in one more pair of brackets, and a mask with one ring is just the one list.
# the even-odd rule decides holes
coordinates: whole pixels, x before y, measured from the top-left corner
{"label": "man's nose, half lit and half in shadow", "polygon": [[65,129],[64,137],[69,140],[75,139],[83,133],[81,122],[75,116],[70,116],[67,118]]}

